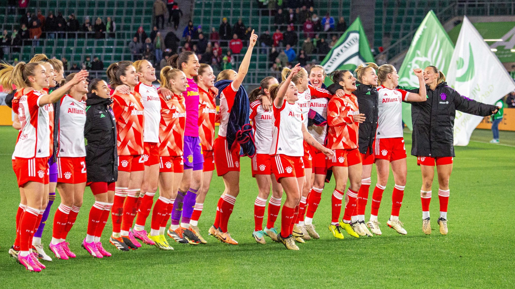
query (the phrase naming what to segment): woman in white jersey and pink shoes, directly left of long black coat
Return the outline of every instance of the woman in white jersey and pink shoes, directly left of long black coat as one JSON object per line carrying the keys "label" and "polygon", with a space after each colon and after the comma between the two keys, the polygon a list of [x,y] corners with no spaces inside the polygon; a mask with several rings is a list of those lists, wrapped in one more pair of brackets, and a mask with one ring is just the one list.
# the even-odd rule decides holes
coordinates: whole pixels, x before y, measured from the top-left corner
{"label": "woman in white jersey and pink shoes, directly left of long black coat", "polygon": [[[75,74],[68,75],[65,82],[70,82]],[[70,92],[61,98],[59,106],[59,125],[57,130],[57,189],[61,204],[54,215],[54,228],[49,248],[56,258],[67,260],[77,257],[68,247],[66,236],[77,220],[82,206],[84,188],[86,187],[86,149],[84,146],[84,124],[86,122],[86,104],[82,99],[88,93],[88,81],[83,80],[72,86]],[[84,246],[82,242],[82,246]],[[88,244],[87,244],[88,245]],[[86,250],[96,256],[86,246]]]}

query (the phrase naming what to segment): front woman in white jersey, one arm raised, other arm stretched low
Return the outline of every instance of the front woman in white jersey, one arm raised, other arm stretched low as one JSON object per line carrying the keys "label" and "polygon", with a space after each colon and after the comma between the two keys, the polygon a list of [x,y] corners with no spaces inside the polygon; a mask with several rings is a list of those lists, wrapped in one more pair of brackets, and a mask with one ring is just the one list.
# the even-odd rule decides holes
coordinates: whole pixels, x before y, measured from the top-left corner
{"label": "front woman in white jersey, one arm raised, other arm stretched low", "polygon": [[[292,81],[299,71],[304,70],[297,64],[285,81],[273,84],[270,96],[273,100],[272,173],[286,192],[286,201],[281,213],[281,233],[278,241],[287,249],[298,250],[292,235],[295,215],[298,215],[301,190],[304,184],[303,141],[322,151],[327,156],[333,152],[317,142],[304,125],[298,89]],[[304,70],[305,71],[305,70]]]}

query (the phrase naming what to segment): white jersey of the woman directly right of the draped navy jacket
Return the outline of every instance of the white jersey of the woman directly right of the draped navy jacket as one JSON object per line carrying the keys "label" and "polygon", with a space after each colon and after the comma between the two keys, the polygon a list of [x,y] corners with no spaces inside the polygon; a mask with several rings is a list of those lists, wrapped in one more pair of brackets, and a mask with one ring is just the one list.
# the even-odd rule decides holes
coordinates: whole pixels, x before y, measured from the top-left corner
{"label": "white jersey of the woman directly right of the draped navy jacket", "polygon": [[268,154],[272,146],[272,112],[266,112],[261,101],[256,100],[250,104],[250,120],[252,121],[256,153]]}

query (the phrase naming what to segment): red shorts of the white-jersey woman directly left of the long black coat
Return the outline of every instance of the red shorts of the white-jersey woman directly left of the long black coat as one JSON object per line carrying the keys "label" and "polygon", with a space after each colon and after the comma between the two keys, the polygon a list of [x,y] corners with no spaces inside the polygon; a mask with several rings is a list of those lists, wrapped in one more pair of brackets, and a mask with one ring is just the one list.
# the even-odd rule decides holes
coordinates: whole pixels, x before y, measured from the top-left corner
{"label": "red shorts of the white-jersey woman directly left of the long black coat", "polygon": [[85,156],[57,158],[57,183],[80,184],[87,179]]}

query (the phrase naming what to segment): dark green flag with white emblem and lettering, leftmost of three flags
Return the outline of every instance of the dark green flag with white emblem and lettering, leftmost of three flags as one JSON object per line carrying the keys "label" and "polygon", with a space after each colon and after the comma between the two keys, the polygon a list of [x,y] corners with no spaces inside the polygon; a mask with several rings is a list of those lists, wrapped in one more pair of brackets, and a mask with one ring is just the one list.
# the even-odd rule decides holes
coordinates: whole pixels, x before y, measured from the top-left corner
{"label": "dark green flag with white emblem and lettering, leftmost of three flags", "polygon": [[[374,57],[370,51],[367,35],[363,29],[363,24],[359,17],[349,26],[347,31],[341,35],[336,45],[329,51],[323,59],[322,65],[325,73],[330,74],[334,70],[347,69],[354,71],[359,64],[373,62]],[[325,85],[330,85],[326,78]]]}

